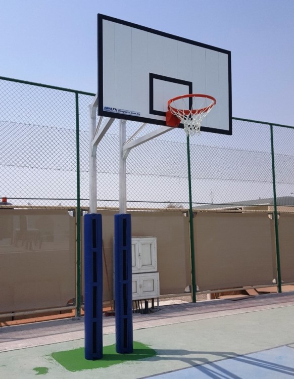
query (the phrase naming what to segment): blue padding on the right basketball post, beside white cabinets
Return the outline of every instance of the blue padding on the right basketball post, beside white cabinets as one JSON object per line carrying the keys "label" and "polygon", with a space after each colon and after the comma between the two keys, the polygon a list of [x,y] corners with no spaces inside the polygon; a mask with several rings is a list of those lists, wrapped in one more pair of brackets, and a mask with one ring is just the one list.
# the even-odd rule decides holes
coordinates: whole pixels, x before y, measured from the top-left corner
{"label": "blue padding on the right basketball post, beside white cabinets", "polygon": [[133,352],[131,215],[114,216],[116,352]]}

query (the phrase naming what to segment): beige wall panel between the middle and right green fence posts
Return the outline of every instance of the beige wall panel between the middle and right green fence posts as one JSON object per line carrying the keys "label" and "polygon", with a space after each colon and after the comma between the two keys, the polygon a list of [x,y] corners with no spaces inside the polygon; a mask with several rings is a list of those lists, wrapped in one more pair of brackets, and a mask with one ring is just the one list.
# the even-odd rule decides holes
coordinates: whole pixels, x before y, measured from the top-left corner
{"label": "beige wall panel between the middle and right green fence posts", "polygon": [[276,277],[274,222],[267,214],[194,215],[199,290],[269,285]]}

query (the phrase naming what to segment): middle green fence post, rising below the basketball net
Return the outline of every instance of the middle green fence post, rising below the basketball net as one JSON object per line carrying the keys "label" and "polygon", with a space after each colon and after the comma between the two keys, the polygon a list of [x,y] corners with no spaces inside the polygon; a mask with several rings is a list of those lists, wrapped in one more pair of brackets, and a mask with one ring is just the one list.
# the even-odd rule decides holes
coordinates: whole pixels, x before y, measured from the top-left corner
{"label": "middle green fence post, rising below the basketball net", "polygon": [[193,228],[193,207],[192,207],[190,138],[188,135],[187,135],[187,161],[188,161],[188,182],[189,182],[189,228],[190,228],[191,281],[192,281],[191,292],[192,292],[192,302],[196,303],[196,275],[195,275],[195,254],[194,254],[194,228]]}

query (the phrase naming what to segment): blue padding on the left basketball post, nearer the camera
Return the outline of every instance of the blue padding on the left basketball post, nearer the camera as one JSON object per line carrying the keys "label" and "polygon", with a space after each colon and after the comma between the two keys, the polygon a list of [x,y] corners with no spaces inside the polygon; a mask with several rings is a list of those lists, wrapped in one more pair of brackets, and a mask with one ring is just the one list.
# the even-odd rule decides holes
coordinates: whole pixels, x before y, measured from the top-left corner
{"label": "blue padding on the left basketball post, nearer the camera", "polygon": [[102,340],[102,216],[84,217],[85,358],[103,357]]}

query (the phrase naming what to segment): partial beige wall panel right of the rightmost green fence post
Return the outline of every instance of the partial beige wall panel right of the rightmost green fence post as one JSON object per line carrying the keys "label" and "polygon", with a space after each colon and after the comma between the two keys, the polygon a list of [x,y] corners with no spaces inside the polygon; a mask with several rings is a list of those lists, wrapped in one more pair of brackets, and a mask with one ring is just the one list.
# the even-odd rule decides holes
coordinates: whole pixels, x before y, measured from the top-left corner
{"label": "partial beige wall panel right of the rightmost green fence post", "polygon": [[285,283],[294,282],[294,215],[279,217],[281,276]]}

